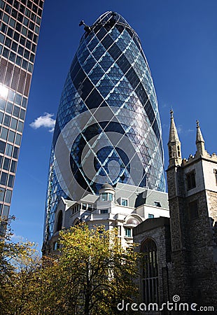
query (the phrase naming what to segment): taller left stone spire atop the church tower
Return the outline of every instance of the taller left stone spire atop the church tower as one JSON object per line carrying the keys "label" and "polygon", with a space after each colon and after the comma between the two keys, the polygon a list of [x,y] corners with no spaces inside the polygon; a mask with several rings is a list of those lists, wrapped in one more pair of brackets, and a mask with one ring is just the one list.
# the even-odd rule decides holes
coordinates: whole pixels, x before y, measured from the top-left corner
{"label": "taller left stone spire atop the church tower", "polygon": [[170,129],[169,129],[169,165],[181,165],[181,142],[174,122],[174,111],[170,111]]}

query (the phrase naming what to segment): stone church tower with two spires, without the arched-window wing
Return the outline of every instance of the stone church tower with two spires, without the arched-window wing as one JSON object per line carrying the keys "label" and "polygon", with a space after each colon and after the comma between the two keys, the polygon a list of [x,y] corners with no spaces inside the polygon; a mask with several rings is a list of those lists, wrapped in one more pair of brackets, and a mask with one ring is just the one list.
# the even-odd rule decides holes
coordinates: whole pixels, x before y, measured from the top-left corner
{"label": "stone church tower with two spires, without the arched-window wing", "polygon": [[171,111],[167,186],[172,241],[170,295],[217,307],[217,155],[209,155],[197,121],[197,151],[181,158]]}

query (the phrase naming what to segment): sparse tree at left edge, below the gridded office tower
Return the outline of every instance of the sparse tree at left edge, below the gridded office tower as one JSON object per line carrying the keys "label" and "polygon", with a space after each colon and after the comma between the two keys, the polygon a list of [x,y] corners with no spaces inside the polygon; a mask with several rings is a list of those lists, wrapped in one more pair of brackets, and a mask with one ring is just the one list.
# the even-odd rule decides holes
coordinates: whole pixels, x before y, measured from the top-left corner
{"label": "sparse tree at left edge, below the gridded office tower", "polygon": [[40,265],[40,258],[34,243],[11,240],[10,227],[12,216],[1,219],[0,234],[0,313],[38,314],[34,312],[35,272]]}

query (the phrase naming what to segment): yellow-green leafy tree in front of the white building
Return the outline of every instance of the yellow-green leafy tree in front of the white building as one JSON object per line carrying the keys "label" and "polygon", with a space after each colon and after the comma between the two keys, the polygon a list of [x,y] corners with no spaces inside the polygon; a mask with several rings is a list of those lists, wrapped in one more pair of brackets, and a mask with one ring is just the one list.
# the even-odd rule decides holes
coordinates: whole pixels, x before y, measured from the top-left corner
{"label": "yellow-green leafy tree in front of the white building", "polygon": [[120,314],[117,304],[122,300],[132,302],[137,293],[134,277],[139,253],[121,246],[116,229],[89,229],[81,224],[59,235],[62,248],[57,264],[61,283],[58,292],[62,312]]}

